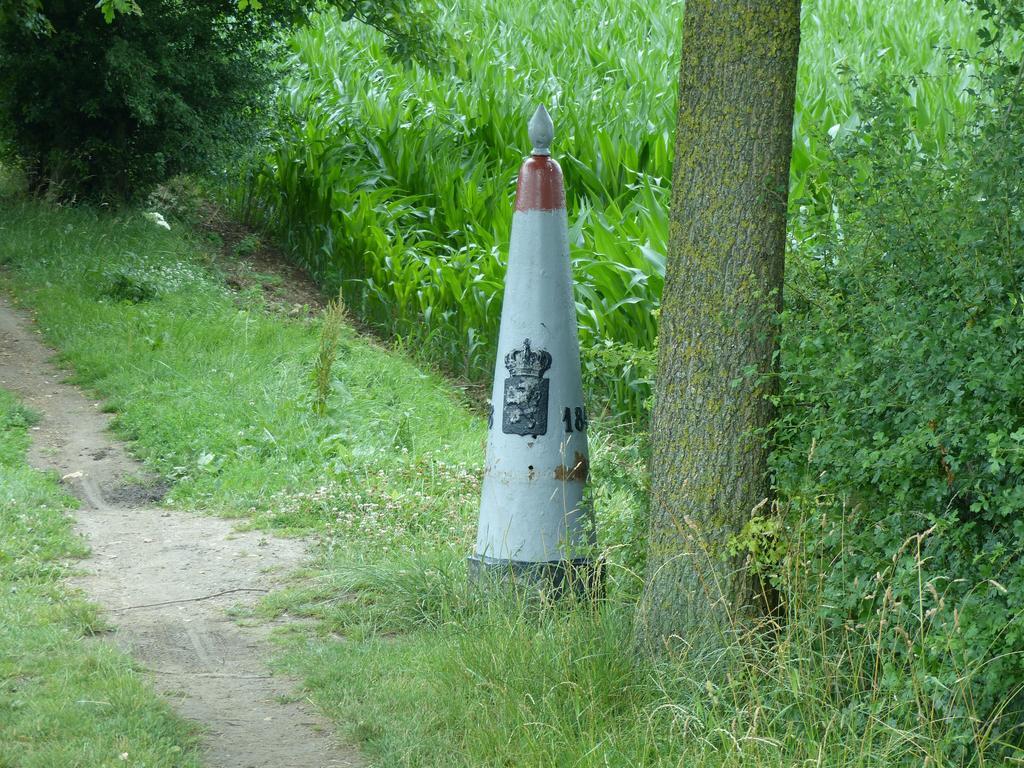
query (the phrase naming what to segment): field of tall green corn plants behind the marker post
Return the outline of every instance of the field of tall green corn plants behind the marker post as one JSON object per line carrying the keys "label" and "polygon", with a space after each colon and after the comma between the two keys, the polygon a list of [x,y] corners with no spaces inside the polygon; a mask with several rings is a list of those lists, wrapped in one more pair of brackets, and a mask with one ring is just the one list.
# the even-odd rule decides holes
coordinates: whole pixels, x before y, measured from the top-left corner
{"label": "field of tall green corn plants behind the marker post", "polygon": [[[379,35],[326,15],[295,36],[285,116],[242,206],[366,322],[450,370],[490,375],[526,120],[551,109],[566,176],[585,370],[644,420],[668,239],[683,3],[442,0],[452,60],[388,58]],[[538,23],[543,19],[543,23]],[[792,199],[829,205],[821,159],[857,125],[853,82],[920,74],[904,112],[942,145],[972,109],[974,48],[946,0],[806,0]]]}

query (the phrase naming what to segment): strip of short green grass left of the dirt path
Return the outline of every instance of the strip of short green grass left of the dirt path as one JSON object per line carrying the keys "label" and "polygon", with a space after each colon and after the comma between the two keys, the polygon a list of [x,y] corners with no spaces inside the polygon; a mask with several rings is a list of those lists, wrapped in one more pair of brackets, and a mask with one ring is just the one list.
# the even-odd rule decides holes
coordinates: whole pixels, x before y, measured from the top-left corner
{"label": "strip of short green grass left of the dirt path", "polygon": [[0,390],[0,765],[195,768],[193,729],[93,637],[95,606],[63,584],[86,550],[74,500],[26,463],[33,423]]}

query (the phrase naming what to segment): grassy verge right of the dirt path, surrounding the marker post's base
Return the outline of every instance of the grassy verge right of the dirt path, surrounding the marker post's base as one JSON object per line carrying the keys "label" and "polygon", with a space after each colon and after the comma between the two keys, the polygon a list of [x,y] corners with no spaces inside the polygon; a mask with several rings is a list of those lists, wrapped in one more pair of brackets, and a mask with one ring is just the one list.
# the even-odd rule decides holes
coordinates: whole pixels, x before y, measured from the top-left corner
{"label": "grassy verge right of the dirt path, surrounding the marker post's base", "polygon": [[[880,693],[885,676],[922,680],[927,665],[880,650],[878,616],[823,625],[814,585],[797,590],[806,602],[776,644],[637,655],[628,566],[643,546],[643,458],[606,431],[594,476],[607,600],[482,599],[464,564],[482,420],[451,384],[342,326],[314,416],[321,324],[226,292],[179,227],[29,203],[0,212],[3,285],[110,398],[117,428],[174,481],[172,502],[317,538],[316,559],[258,612],[312,620],[280,633],[276,664],[381,765],[999,764],[983,731],[957,746],[941,713]],[[969,682],[950,695],[967,700]]]}

